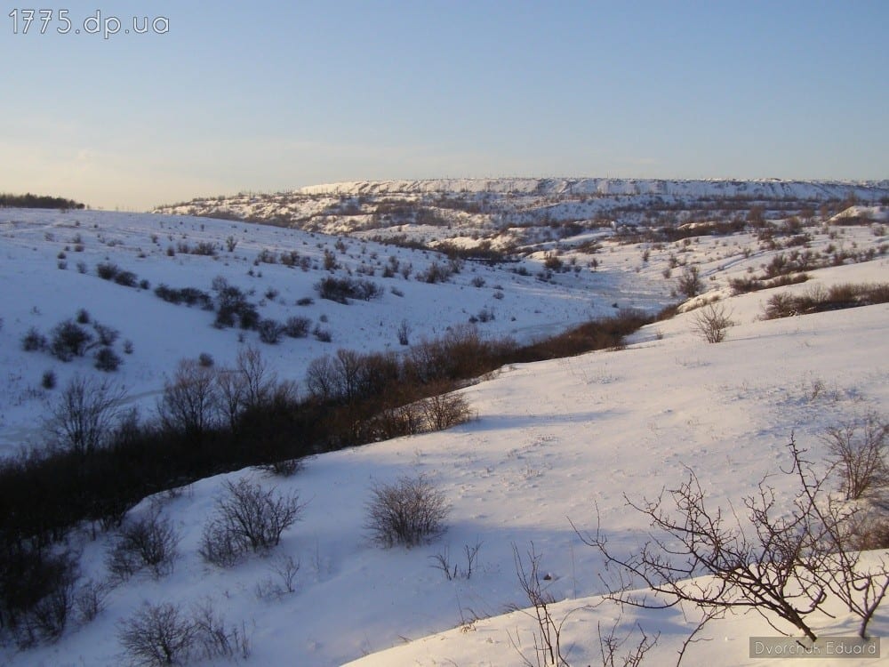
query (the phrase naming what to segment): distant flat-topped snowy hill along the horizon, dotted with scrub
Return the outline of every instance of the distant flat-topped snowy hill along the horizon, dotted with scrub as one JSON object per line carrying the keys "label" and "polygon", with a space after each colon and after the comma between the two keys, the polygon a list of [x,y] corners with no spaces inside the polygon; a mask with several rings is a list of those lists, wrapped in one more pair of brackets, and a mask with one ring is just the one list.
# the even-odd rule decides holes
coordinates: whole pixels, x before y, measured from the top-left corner
{"label": "distant flat-topped snowy hill along the horizon, dotted with scrub", "polygon": [[430,246],[451,241],[464,248],[513,250],[610,225],[732,221],[754,205],[775,214],[818,212],[825,217],[855,203],[887,201],[889,181],[442,179],[354,181],[198,198],[160,206],[156,213],[263,221]]}

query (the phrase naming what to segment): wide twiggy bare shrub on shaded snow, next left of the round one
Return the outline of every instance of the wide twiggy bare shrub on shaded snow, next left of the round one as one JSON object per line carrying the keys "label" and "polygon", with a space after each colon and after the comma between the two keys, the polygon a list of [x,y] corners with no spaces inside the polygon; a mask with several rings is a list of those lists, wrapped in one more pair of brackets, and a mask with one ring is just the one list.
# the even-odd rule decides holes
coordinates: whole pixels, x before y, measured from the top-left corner
{"label": "wide twiggy bare shrub on shaded snow, next left of the round one", "polygon": [[246,478],[223,485],[227,494],[216,502],[216,514],[204,526],[201,554],[216,565],[236,561],[248,550],[277,546],[281,534],[300,519],[305,503],[297,495],[264,490]]}

